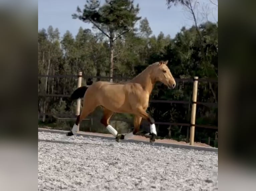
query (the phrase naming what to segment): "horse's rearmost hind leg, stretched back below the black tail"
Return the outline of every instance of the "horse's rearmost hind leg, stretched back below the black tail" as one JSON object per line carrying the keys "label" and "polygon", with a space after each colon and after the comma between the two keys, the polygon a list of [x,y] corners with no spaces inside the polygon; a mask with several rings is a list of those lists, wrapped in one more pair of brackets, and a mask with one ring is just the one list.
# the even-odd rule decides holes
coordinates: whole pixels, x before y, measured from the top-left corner
{"label": "horse's rearmost hind leg, stretched back below the black tail", "polygon": [[77,120],[76,120],[72,130],[67,133],[67,136],[72,136],[72,135],[76,134],[77,130],[78,130],[79,123],[84,118],[86,118],[91,112],[93,112],[96,107],[97,107],[97,105],[92,104],[92,103],[88,104],[88,102],[86,103],[86,106],[85,106],[85,101],[84,101],[82,112],[80,115],[77,116]]}

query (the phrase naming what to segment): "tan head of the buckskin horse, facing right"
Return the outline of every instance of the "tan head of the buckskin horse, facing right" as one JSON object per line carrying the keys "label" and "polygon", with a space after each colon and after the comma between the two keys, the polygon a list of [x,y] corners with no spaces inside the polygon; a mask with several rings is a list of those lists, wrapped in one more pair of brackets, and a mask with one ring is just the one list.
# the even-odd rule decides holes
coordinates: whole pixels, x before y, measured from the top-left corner
{"label": "tan head of the buckskin horse, facing right", "polygon": [[166,66],[168,61],[160,61],[155,64],[155,67],[152,72],[152,77],[156,81],[162,82],[164,85],[166,85],[169,89],[175,88],[176,82],[174,78],[172,77],[172,74],[169,70],[169,68]]}

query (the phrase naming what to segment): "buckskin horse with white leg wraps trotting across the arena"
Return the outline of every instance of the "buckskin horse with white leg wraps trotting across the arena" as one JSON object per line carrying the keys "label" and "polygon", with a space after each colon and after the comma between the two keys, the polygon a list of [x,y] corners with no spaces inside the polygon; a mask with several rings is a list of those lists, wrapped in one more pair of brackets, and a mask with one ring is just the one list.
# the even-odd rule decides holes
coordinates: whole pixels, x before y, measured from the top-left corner
{"label": "buckskin horse with white leg wraps trotting across the arena", "polygon": [[[119,142],[122,139],[130,139],[139,131],[142,118],[150,123],[150,143],[154,143],[157,135],[155,120],[146,109],[148,107],[149,96],[156,82],[161,82],[174,89],[176,82],[167,66],[168,61],[160,61],[149,65],[145,70],[133,79],[125,83],[111,83],[98,81],[87,86],[76,89],[71,95],[71,99],[84,98],[81,114],[77,116],[76,122],[67,136],[77,133],[79,123],[86,118],[96,107],[103,107],[103,117],[101,123]],[[134,129],[130,133],[118,134],[117,130],[109,124],[113,113],[130,113],[134,115]]]}

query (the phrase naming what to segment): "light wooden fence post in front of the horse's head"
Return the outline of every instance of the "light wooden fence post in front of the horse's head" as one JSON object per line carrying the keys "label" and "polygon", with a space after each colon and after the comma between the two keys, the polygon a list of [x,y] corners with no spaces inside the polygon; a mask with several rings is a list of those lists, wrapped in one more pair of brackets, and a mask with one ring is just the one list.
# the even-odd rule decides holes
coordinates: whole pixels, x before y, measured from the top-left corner
{"label": "light wooden fence post in front of the horse's head", "polygon": [[194,145],[195,137],[195,123],[196,123],[196,108],[197,108],[197,90],[198,90],[198,77],[194,77],[193,97],[192,97],[192,109],[191,109],[191,121],[190,121],[190,145]]}

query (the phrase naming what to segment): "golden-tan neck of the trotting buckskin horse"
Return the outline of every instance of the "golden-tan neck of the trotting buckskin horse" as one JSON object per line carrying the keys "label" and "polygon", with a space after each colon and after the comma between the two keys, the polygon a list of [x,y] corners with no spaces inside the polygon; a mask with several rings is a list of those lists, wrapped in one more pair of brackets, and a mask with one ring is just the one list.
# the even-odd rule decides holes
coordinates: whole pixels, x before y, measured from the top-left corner
{"label": "golden-tan neck of the trotting buckskin horse", "polygon": [[155,85],[155,82],[150,77],[150,71],[143,71],[138,76],[130,80],[130,82],[141,84],[142,88],[147,91],[149,95]]}

